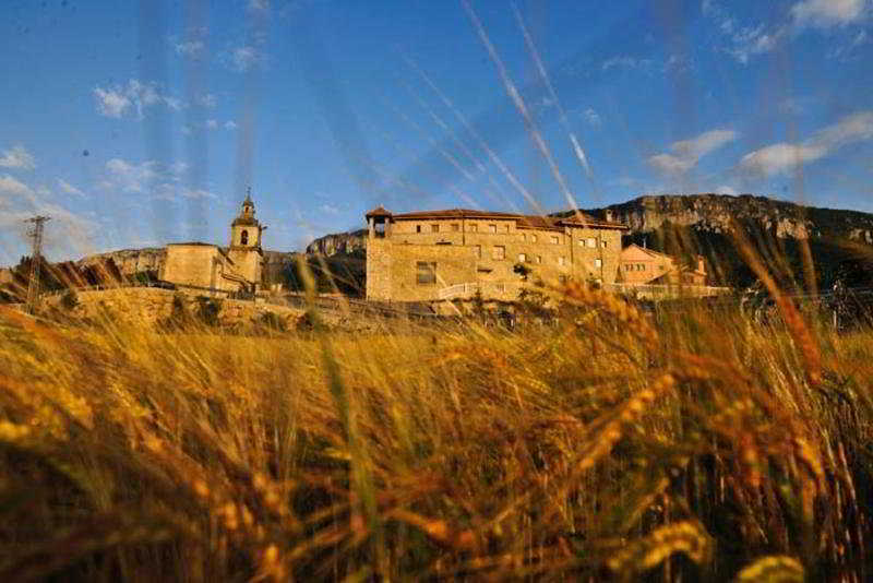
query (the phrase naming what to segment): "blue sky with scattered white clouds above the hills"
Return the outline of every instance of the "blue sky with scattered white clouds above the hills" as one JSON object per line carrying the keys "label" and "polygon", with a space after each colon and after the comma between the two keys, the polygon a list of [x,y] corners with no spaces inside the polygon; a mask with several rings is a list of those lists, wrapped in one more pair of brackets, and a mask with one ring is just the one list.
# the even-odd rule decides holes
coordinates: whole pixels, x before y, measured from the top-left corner
{"label": "blue sky with scattered white clouds above the hills", "polygon": [[394,211],[753,192],[873,212],[873,1],[7,0],[0,264]]}

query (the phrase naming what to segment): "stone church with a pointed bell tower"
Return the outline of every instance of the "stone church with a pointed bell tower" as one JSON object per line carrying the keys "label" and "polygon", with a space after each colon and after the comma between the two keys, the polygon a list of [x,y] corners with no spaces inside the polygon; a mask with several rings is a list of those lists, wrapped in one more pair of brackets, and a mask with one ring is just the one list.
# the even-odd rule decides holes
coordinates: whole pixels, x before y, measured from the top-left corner
{"label": "stone church with a pointed bell tower", "polygon": [[239,215],[230,224],[230,247],[204,242],[167,245],[160,279],[204,291],[254,294],[261,289],[266,229],[254,217],[251,189]]}

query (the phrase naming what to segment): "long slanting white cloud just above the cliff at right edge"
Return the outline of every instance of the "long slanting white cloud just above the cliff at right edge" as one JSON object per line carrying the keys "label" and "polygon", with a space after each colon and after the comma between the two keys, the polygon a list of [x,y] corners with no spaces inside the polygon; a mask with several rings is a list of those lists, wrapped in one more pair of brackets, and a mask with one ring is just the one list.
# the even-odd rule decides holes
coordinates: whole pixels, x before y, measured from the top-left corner
{"label": "long slanting white cloud just above the cliff at right edge", "polygon": [[740,160],[740,168],[757,176],[787,174],[824,158],[846,144],[871,139],[873,111],[860,111],[818,130],[799,144],[781,142],[750,152]]}

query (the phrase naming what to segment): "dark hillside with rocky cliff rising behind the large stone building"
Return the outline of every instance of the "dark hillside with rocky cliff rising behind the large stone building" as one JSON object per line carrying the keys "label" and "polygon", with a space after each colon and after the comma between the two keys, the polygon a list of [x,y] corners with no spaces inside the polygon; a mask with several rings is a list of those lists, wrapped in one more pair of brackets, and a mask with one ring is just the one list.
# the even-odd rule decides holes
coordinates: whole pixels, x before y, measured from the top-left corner
{"label": "dark hillside with rocky cliff rising behind the large stone building", "polygon": [[[586,210],[597,217],[603,217],[607,211],[614,221],[631,227],[625,245],[636,242],[673,254],[705,255],[713,283],[745,287],[754,282],[736,251],[730,236],[731,221],[743,225],[766,250],[772,267],[780,272],[777,276],[786,285],[793,286],[802,271],[802,240],[810,245],[818,286],[829,287],[838,278],[866,285],[869,278],[869,265],[859,264],[846,243],[873,245],[873,214],[803,206],[752,194],[645,195]],[[331,258],[359,255],[366,242],[364,229],[331,234],[313,240],[307,253]],[[775,255],[784,261],[777,261]]]}

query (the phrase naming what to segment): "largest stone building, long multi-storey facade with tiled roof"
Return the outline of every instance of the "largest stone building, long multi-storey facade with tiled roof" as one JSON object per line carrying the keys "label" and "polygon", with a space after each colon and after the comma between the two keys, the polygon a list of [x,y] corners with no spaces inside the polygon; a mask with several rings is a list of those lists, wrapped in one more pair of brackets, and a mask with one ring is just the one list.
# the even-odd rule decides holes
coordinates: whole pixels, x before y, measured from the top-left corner
{"label": "largest stone building, long multi-storey facade with tiled roof", "polygon": [[611,284],[626,229],[606,217],[528,216],[467,209],[367,213],[367,299],[514,300],[526,284]]}

